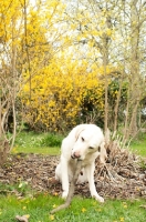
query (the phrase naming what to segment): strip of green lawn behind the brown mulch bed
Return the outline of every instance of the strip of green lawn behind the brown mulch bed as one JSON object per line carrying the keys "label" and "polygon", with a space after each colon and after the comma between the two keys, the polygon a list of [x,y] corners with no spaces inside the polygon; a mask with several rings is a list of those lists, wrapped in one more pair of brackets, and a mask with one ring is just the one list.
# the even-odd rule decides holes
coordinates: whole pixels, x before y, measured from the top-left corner
{"label": "strip of green lawn behind the brown mulch bed", "polygon": [[[63,135],[49,133],[21,132],[15,140],[13,153],[41,153],[58,155]],[[140,134],[132,141],[129,149],[139,155],[146,157],[146,134]]]}

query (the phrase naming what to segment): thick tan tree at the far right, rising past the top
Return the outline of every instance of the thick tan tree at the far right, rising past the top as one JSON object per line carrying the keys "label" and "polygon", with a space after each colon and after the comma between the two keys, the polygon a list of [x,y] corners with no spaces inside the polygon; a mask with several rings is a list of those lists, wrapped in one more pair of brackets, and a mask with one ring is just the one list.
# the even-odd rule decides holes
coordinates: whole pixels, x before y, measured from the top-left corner
{"label": "thick tan tree at the far right, rising past the top", "polygon": [[142,26],[146,18],[142,18],[144,13],[142,1],[131,1],[131,101],[129,101],[129,134],[137,133],[137,112],[142,100],[144,88],[143,77],[140,74],[140,41],[142,41]]}

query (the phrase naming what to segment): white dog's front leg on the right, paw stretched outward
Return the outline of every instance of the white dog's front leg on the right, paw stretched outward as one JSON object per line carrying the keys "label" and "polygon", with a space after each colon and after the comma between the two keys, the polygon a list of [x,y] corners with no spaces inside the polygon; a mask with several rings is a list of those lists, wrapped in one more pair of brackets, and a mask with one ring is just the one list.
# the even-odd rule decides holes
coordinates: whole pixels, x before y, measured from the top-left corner
{"label": "white dog's front leg on the right, paw stretched outward", "polygon": [[95,170],[94,163],[90,164],[90,165],[86,165],[86,168],[85,168],[85,173],[86,173],[86,176],[87,176],[91,195],[93,198],[95,198],[97,201],[104,202],[104,199],[101,195],[98,195],[98,193],[96,191],[96,188],[95,188],[95,183],[94,183],[94,170]]}

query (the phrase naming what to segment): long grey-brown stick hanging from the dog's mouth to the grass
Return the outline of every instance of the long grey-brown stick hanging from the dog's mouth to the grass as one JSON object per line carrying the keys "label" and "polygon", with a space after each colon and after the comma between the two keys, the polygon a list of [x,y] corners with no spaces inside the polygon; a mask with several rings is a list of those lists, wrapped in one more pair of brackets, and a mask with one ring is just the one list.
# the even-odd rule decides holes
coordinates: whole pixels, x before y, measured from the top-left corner
{"label": "long grey-brown stick hanging from the dog's mouth to the grass", "polygon": [[81,167],[82,167],[82,161],[77,161],[76,168],[74,169],[73,179],[72,179],[71,184],[70,184],[70,190],[69,190],[66,201],[65,201],[64,204],[59,205],[56,209],[52,210],[51,214],[70,206],[73,194],[74,194],[75,183],[76,183],[79,174],[81,172]]}

